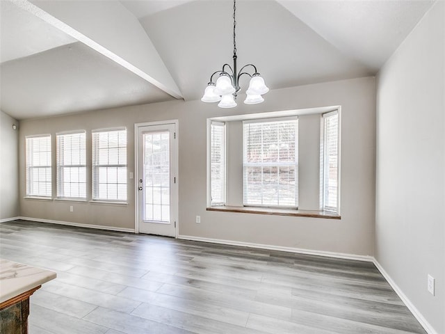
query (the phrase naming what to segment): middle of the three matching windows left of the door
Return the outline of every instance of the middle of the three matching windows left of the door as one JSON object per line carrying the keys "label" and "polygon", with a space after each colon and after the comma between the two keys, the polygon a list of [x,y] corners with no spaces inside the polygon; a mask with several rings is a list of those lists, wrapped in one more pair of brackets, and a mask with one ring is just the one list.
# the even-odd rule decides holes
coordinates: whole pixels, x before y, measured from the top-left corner
{"label": "middle of the three matching windows left of the door", "polygon": [[86,198],[86,134],[57,134],[57,197]]}

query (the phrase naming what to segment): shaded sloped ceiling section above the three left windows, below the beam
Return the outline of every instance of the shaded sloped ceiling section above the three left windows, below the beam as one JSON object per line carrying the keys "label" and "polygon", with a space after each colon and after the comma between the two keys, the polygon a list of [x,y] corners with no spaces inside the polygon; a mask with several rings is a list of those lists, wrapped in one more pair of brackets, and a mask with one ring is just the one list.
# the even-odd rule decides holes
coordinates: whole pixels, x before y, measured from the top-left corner
{"label": "shaded sloped ceiling section above the three left windows, below the beam", "polygon": [[1,65],[1,110],[17,119],[167,100],[172,97],[81,42]]}

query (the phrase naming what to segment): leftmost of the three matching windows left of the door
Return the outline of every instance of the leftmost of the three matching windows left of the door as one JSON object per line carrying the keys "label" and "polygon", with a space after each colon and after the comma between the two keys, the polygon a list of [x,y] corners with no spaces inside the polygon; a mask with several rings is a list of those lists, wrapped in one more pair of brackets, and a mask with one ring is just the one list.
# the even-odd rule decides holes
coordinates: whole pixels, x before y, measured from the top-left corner
{"label": "leftmost of the three matching windows left of the door", "polygon": [[25,141],[26,196],[51,197],[51,135]]}

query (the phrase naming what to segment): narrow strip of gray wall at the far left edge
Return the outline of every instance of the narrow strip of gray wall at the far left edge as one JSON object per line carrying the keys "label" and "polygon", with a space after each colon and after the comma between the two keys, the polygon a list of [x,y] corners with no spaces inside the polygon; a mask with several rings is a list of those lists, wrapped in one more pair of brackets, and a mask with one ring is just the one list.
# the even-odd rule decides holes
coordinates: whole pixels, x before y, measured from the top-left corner
{"label": "narrow strip of gray wall at the far left edge", "polygon": [[0,111],[0,221],[19,216],[18,126],[17,120]]}

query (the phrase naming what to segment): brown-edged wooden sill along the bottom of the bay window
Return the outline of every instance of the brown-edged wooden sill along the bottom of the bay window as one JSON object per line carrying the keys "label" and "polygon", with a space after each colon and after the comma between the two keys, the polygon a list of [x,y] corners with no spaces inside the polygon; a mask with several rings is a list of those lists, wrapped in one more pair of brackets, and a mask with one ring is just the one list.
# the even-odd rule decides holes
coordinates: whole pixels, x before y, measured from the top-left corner
{"label": "brown-edged wooden sill along the bottom of the bay window", "polygon": [[294,217],[309,217],[309,218],[328,218],[341,219],[341,216],[334,212],[325,211],[311,211],[298,209],[279,209],[273,207],[233,207],[227,205],[218,205],[214,207],[207,207],[207,211],[218,212],[239,212],[243,214],[270,214],[277,216],[294,216]]}

